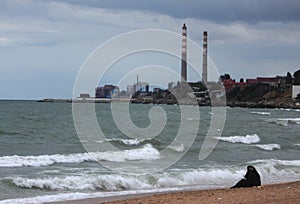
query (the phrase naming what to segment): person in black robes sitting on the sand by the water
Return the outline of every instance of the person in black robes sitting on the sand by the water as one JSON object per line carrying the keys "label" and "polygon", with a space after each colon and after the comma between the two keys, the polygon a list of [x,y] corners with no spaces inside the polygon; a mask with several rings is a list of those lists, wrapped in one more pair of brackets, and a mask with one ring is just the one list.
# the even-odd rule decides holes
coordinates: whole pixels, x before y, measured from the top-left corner
{"label": "person in black robes sitting on the sand by the water", "polygon": [[231,188],[261,186],[259,173],[254,166],[247,166],[247,173],[242,180]]}

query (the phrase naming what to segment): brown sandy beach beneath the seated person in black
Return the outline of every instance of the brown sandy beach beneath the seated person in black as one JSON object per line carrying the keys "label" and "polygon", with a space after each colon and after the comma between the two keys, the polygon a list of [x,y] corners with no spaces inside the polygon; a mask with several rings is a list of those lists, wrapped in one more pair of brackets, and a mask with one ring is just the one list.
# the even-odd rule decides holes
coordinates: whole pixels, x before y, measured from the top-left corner
{"label": "brown sandy beach beneath the seated person in black", "polygon": [[300,203],[300,181],[268,184],[262,187],[182,191],[155,195],[129,195],[118,198],[93,198],[57,203],[75,204],[214,204],[214,203]]}

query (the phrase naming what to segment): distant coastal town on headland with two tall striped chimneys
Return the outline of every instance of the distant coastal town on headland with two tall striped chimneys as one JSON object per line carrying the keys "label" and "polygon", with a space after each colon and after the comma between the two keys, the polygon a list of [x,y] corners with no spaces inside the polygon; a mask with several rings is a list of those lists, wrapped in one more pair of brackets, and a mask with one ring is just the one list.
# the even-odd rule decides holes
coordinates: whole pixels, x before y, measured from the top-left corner
{"label": "distant coastal town on headland with two tall striped chimneys", "polygon": [[[285,76],[257,77],[239,80],[230,74],[208,81],[207,69],[208,32],[203,32],[202,78],[187,82],[187,26],[182,26],[181,79],[169,82],[167,89],[152,88],[139,80],[120,90],[117,85],[96,87],[94,96],[82,93],[75,99],[43,99],[40,102],[130,102],[142,104],[225,105],[253,108],[300,108],[300,70]],[[167,82],[166,82],[167,83]],[[212,104],[213,102],[213,104]],[[224,104],[225,102],[225,104]]]}

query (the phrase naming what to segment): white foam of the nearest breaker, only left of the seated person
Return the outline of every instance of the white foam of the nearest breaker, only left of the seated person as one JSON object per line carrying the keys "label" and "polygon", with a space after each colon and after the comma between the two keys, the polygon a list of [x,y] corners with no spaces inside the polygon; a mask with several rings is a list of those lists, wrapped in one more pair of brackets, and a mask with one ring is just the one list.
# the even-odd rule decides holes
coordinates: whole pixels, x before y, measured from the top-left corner
{"label": "white foam of the nearest breaker, only left of the seated person", "polygon": [[[117,190],[147,190],[172,188],[188,185],[216,185],[219,181],[226,183],[239,178],[244,170],[229,169],[199,169],[179,171],[177,173],[153,174],[151,176],[126,176],[123,174],[109,175],[90,175],[88,173],[77,176],[65,177],[42,177],[26,178],[13,177],[11,182],[21,188],[38,188],[47,189],[48,191],[58,190],[100,190],[100,191],[117,191]],[[230,185],[230,183],[228,183]],[[220,187],[220,186],[219,186]]]}

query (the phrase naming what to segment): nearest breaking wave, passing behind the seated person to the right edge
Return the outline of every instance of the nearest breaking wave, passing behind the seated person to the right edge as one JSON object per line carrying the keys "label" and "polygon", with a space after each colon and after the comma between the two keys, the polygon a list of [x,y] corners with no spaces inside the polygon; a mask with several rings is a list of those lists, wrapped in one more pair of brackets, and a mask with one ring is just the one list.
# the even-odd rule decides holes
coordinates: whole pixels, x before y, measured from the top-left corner
{"label": "nearest breaking wave, passing behind the seated person to the right edge", "polygon": [[[247,162],[255,165],[262,177],[272,182],[275,180],[294,179],[300,176],[300,160],[254,160]],[[288,167],[288,168],[287,168]],[[61,177],[26,178],[15,176],[6,178],[13,185],[21,188],[58,190],[147,190],[199,185],[226,187],[235,183],[245,174],[245,166],[219,166],[194,170],[175,170],[151,175],[124,174],[88,174]],[[220,183],[224,184],[220,186]]]}

